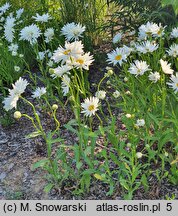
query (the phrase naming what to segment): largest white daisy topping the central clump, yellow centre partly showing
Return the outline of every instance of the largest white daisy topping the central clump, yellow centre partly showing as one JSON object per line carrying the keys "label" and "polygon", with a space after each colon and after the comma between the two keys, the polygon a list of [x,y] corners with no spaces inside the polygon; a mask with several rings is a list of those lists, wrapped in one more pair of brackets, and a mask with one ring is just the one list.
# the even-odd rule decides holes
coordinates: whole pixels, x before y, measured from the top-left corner
{"label": "largest white daisy topping the central clump, yellow centre partly showing", "polygon": [[75,41],[73,43],[65,42],[64,48],[59,46],[59,48],[54,51],[52,59],[54,62],[65,64],[67,60],[71,58],[77,58],[83,54],[83,44],[81,41]]}

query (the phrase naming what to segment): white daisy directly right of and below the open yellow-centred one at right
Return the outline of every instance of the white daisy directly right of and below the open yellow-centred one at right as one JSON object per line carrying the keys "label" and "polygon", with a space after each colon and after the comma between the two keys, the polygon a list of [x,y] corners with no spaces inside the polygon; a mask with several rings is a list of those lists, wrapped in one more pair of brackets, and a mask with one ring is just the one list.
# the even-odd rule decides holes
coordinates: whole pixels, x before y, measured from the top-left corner
{"label": "white daisy directly right of and below the open yellow-centred one at right", "polygon": [[143,75],[146,71],[149,71],[149,65],[146,61],[135,60],[134,63],[130,65],[129,72],[136,76]]}

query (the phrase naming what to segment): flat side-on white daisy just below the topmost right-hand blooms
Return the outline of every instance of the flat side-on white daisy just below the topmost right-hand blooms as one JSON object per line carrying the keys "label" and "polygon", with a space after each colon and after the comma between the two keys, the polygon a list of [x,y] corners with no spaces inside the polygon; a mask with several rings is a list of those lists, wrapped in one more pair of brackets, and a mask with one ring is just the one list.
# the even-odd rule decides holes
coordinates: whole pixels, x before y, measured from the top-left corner
{"label": "flat side-on white daisy just below the topmost right-hand blooms", "polygon": [[151,53],[158,49],[158,45],[151,43],[150,41],[142,42],[141,44],[136,45],[136,49],[141,53]]}

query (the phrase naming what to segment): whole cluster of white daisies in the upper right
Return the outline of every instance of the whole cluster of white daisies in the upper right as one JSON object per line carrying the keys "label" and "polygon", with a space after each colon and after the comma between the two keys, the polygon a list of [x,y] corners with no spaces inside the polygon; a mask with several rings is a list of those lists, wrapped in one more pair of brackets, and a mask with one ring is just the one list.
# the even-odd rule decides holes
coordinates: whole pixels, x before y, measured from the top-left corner
{"label": "whole cluster of white daisies in the upper right", "polygon": [[[117,47],[112,52],[108,53],[107,61],[113,65],[122,66],[124,62],[128,63],[128,57],[131,56],[131,53],[134,58],[144,56],[145,54],[148,56],[149,54],[153,56],[157,54],[157,50],[165,49],[160,47],[160,44],[157,42],[159,38],[165,39],[165,27],[161,24],[156,24],[152,22],[147,22],[145,25],[141,25],[138,29],[138,37],[136,37],[135,41],[130,42],[130,46],[122,46]],[[171,33],[167,36],[170,41],[173,41],[172,45],[166,49],[162,58],[159,60],[160,70],[154,71],[150,65],[145,60],[136,59],[128,68],[128,72],[135,76],[142,76],[145,72],[149,71],[148,79],[153,83],[156,83],[161,78],[161,73],[169,74],[170,81],[167,82],[167,85],[171,87],[175,93],[178,92],[178,72],[174,72],[173,68],[171,68],[171,63],[166,60],[166,58],[172,59],[174,62],[177,61],[178,58],[178,44],[176,43],[176,39],[178,38],[178,27],[173,28]],[[114,36],[113,42],[120,43],[123,36],[121,33],[118,33]],[[164,50],[163,50],[164,51]],[[159,50],[160,52],[160,50]],[[162,52],[162,51],[161,51]],[[132,59],[132,57],[130,59]],[[130,62],[129,59],[129,62]],[[151,63],[151,62],[150,62]],[[157,66],[157,65],[156,65]]]}

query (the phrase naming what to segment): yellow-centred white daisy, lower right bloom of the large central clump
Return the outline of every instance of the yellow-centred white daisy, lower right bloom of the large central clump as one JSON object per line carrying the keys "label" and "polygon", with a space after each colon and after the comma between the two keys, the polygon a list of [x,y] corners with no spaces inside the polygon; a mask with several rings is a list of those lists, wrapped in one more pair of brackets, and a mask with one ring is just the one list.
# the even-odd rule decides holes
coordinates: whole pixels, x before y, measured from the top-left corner
{"label": "yellow-centred white daisy, lower right bloom of the large central clump", "polygon": [[90,52],[88,52],[78,56],[77,58],[74,58],[72,60],[72,63],[76,68],[83,68],[85,70],[89,70],[89,66],[92,64],[93,61],[93,56],[90,55]]}

